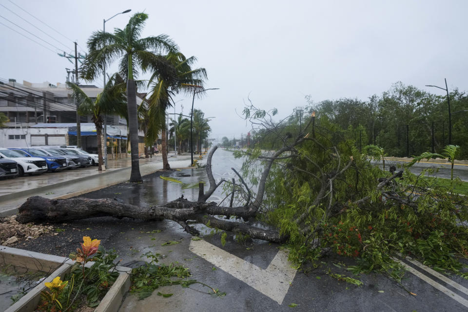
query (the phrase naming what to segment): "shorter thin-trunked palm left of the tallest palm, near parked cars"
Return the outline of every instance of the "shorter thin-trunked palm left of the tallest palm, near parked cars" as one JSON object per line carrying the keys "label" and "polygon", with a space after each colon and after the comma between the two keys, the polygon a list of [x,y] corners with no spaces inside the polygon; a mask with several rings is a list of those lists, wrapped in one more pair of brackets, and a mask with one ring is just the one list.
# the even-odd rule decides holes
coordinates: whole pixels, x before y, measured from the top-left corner
{"label": "shorter thin-trunked palm left of the tallest palm, near parked cars", "polygon": [[106,83],[104,90],[96,100],[89,98],[83,90],[76,84],[67,82],[68,87],[73,91],[73,97],[77,100],[78,114],[82,116],[91,115],[96,126],[98,136],[98,170],[102,171],[102,114],[112,114],[126,117],[125,82],[118,75],[114,74]]}

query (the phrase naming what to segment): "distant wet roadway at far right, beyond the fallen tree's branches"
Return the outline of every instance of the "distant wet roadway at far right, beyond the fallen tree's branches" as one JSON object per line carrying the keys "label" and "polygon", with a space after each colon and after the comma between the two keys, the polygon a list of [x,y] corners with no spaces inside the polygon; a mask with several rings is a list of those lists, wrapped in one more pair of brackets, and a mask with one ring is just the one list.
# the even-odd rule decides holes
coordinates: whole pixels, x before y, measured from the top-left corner
{"label": "distant wet roadway at far right, beyond the fallen tree's branches", "polygon": [[[404,160],[386,160],[385,161],[385,169],[388,170],[391,164],[407,164],[409,161]],[[382,168],[381,161],[373,161],[373,163],[379,163],[380,167]],[[423,169],[433,167],[439,168],[439,171],[435,173],[433,176],[443,177],[446,179],[450,178],[450,163],[436,163],[430,161],[421,161],[419,163],[415,163],[409,168],[415,175],[419,175]],[[468,165],[467,164],[455,164],[453,166],[453,177],[458,176],[463,181],[468,181]]]}

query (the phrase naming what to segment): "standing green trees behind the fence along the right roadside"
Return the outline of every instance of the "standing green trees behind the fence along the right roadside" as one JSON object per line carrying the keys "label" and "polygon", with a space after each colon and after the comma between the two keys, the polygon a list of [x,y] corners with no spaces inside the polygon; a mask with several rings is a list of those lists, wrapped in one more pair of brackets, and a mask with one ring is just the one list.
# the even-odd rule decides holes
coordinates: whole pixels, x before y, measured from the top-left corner
{"label": "standing green trees behind the fence along the right roadside", "polygon": [[[453,89],[449,96],[450,143],[460,145],[460,157],[467,159],[468,95]],[[367,101],[340,98],[313,103],[310,96],[308,99],[307,112],[327,116],[340,126],[343,136],[356,141],[358,148],[373,144],[384,148],[390,156],[412,156],[426,151],[440,153],[449,144],[448,102],[443,92],[428,93],[398,82]]]}

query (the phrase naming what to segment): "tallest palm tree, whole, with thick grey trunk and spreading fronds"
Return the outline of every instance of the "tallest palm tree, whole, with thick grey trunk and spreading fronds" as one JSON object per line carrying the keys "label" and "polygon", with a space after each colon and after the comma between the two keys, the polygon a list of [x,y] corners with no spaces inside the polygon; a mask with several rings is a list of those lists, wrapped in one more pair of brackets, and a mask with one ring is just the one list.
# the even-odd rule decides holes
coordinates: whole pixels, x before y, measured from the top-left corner
{"label": "tallest palm tree, whole, with thick grey trunk and spreading fronds", "polygon": [[150,63],[151,69],[160,72],[161,76],[170,74],[170,64],[157,53],[177,51],[176,44],[166,35],[140,38],[146,19],[147,14],[136,13],[124,29],[116,28],[114,34],[94,32],[88,40],[90,52],[81,66],[82,77],[94,80],[101,75],[104,65],[110,65],[120,58],[120,73],[127,81],[128,125],[132,150],[130,182],[142,181],[138,163],[137,90],[134,78],[137,77],[139,69],[145,72]]}

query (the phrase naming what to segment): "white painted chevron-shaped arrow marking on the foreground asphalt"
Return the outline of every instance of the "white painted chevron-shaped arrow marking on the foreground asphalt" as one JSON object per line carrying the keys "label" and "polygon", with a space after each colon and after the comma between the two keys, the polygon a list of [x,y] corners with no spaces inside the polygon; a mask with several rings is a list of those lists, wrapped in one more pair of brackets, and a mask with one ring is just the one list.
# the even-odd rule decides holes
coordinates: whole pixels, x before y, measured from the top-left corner
{"label": "white painted chevron-shaped arrow marking on the foreground asphalt", "polygon": [[268,268],[263,270],[204,240],[191,241],[189,249],[279,304],[283,303],[297,271],[291,267],[288,254],[283,250],[279,250]]}

